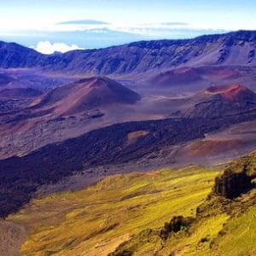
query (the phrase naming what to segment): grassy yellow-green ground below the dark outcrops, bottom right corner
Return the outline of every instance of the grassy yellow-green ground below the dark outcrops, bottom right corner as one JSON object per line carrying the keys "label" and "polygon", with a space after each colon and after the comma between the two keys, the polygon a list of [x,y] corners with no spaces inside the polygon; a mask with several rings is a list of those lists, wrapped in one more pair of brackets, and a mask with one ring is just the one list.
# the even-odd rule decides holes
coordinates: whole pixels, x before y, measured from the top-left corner
{"label": "grassy yellow-green ground below the dark outcrops, bottom right corner", "polygon": [[[236,201],[203,202],[204,214],[177,233],[162,239],[160,230],[143,230],[119,245],[111,256],[248,256],[256,255],[256,189]],[[223,205],[224,204],[224,205]],[[207,211],[207,207],[209,211]]]}

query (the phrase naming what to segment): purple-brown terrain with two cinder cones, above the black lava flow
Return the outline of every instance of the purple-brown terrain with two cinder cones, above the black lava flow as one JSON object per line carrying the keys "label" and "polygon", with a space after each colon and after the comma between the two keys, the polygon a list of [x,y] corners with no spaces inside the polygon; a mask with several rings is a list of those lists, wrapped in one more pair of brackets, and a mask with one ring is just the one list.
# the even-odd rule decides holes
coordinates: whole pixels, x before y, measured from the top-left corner
{"label": "purple-brown terrain with two cinder cones, above the black lava flow", "polygon": [[[3,93],[22,96],[25,90],[34,89]],[[255,109],[254,92],[241,84],[211,86],[192,96],[139,96],[112,79],[92,77],[64,84],[37,98],[20,96],[3,97],[2,159],[120,122],[170,117],[210,119]]]}

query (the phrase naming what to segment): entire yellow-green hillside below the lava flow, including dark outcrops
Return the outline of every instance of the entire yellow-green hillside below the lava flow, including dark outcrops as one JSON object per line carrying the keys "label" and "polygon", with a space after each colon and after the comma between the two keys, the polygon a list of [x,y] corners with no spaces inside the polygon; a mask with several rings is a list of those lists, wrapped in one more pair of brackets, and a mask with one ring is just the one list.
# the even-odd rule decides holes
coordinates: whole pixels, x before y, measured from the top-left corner
{"label": "entire yellow-green hillside below the lava flow, including dark outcrops", "polygon": [[224,172],[190,166],[115,175],[33,200],[0,225],[23,229],[11,247],[23,242],[22,255],[254,255],[255,173],[253,152]]}

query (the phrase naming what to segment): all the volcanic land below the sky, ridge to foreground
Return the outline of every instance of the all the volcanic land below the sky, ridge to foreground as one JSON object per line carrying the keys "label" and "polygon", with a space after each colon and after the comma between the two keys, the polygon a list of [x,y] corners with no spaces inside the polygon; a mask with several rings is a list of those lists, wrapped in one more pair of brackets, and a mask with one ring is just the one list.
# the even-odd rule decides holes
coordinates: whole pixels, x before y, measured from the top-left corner
{"label": "all the volcanic land below the sky, ridge to foreground", "polygon": [[0,254],[253,255],[255,42],[1,41]]}

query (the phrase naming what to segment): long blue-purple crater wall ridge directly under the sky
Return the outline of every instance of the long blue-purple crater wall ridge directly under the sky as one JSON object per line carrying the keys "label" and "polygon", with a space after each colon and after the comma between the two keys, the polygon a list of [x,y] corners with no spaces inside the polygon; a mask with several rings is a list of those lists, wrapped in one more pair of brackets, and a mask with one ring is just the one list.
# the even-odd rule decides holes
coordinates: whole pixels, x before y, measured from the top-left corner
{"label": "long blue-purple crater wall ridge directly under the sky", "polygon": [[0,42],[0,67],[37,67],[56,73],[110,75],[183,66],[253,66],[256,64],[255,49],[255,31],[183,40],[141,41],[58,55],[42,55],[19,44]]}

